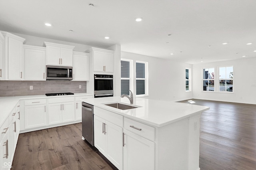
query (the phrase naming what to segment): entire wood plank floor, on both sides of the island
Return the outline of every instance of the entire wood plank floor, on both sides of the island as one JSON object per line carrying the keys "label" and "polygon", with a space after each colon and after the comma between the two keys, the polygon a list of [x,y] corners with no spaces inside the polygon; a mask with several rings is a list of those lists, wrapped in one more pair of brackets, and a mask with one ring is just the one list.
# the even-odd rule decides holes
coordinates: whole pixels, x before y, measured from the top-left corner
{"label": "entire wood plank floor, on both sides of the island", "polygon": [[[256,170],[256,105],[192,100],[210,107],[200,119],[201,170]],[[81,123],[20,134],[12,169],[112,170],[81,136]]]}

